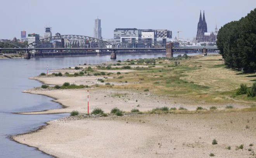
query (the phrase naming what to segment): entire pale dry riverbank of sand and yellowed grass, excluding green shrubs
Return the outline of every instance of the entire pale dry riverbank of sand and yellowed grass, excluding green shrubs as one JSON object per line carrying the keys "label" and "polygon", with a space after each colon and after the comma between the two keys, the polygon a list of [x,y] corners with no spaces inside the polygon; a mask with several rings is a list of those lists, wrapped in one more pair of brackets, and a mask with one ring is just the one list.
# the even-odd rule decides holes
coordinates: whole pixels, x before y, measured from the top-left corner
{"label": "entire pale dry riverbank of sand and yellowed grass, excluding green shrubs", "polygon": [[[199,93],[192,92],[192,97],[188,95],[157,95],[157,91],[144,91],[147,88],[147,78],[161,78],[164,76],[164,66],[156,66],[157,69],[153,73],[140,76],[140,72],[136,69],[132,70],[97,70],[105,71],[106,73],[120,72],[125,76],[125,80],[119,80],[118,75],[112,76],[36,76],[31,79],[38,80],[48,85],[62,85],[64,82],[74,83],[76,85],[89,85],[90,88],[84,89],[54,89],[54,88],[33,88],[24,92],[40,95],[47,95],[55,98],[55,102],[64,105],[63,109],[50,109],[43,112],[23,112],[22,114],[52,114],[71,112],[78,110],[80,113],[87,112],[87,90],[90,91],[90,112],[95,107],[100,107],[104,112],[109,113],[112,108],[129,112],[131,109],[139,109],[142,112],[147,112],[156,107],[167,106],[169,108],[184,107],[188,110],[195,110],[198,106],[209,109],[211,106],[218,108],[215,112],[192,112],[193,114],[145,114],[145,115],[125,115],[123,117],[109,116],[97,118],[84,118],[83,116],[66,117],[60,120],[50,121],[49,125],[35,133],[14,136],[13,139],[29,146],[35,146],[39,150],[59,158],[118,158],[118,157],[209,157],[210,153],[215,157],[227,158],[248,158],[255,157],[256,150],[256,112],[248,112],[244,110],[234,110],[235,112],[219,111],[225,109],[227,105],[232,105],[234,108],[251,107],[254,103],[245,101],[236,101],[233,98],[219,96],[218,91],[227,91],[237,87],[235,83],[241,80],[242,83],[249,83],[249,79],[241,75],[234,77],[234,72],[223,70],[221,68],[212,68],[213,64],[220,64],[216,57],[206,57],[205,60],[195,63],[199,67],[211,61],[211,67],[195,68],[194,71],[184,71],[183,78],[194,82],[194,78],[202,76],[202,85],[211,87]],[[195,59],[198,60],[198,59]],[[200,59],[199,59],[200,60]],[[208,61],[207,61],[208,60]],[[171,64],[173,61],[163,61],[166,64]],[[191,64],[192,60],[188,61]],[[194,65],[192,65],[194,67]],[[191,66],[191,67],[192,67]],[[88,66],[82,66],[87,68]],[[114,66],[113,66],[114,67]],[[120,66],[119,66],[120,67]],[[136,66],[132,66],[136,67]],[[148,66],[140,66],[145,72]],[[190,66],[189,66],[190,67]],[[95,67],[94,67],[95,68]],[[152,69],[154,70],[154,69]],[[54,72],[69,72],[70,74],[79,72],[74,69],[59,69]],[[169,69],[170,71],[170,69]],[[172,71],[172,70],[171,70]],[[214,76],[215,71],[220,71],[218,76]],[[208,74],[205,75],[202,74]],[[127,73],[127,74],[125,74]],[[197,74],[197,75],[194,75]],[[175,74],[175,72],[173,73]],[[172,74],[172,75],[173,75]],[[216,84],[216,80],[221,77],[226,82]],[[229,77],[232,76],[232,77]],[[169,76],[170,78],[171,76]],[[136,78],[134,80],[133,78]],[[143,78],[143,80],[141,80]],[[209,78],[211,80],[209,80]],[[105,85],[106,82],[99,82],[98,79],[103,79],[110,85]],[[168,79],[168,78],[167,78]],[[228,79],[230,81],[228,81]],[[154,79],[155,80],[155,79]],[[199,79],[198,79],[199,80]],[[160,82],[156,80],[156,83]],[[229,84],[227,84],[229,83]],[[95,86],[99,85],[99,87]],[[154,86],[155,82],[151,86]],[[111,86],[114,85],[114,86]],[[232,87],[231,87],[232,86]],[[137,89],[134,87],[138,87]],[[159,86],[161,88],[161,86]],[[231,88],[230,88],[231,87]],[[166,87],[162,87],[166,88]],[[168,87],[167,87],[168,88]],[[171,87],[173,90],[183,87]],[[156,90],[159,90],[159,88]],[[205,90],[206,91],[206,90]],[[201,99],[206,95],[214,95],[212,102]],[[193,95],[195,95],[193,99]],[[215,97],[216,95],[216,97]],[[208,98],[205,98],[208,99]],[[220,101],[223,100],[223,101]],[[227,104],[229,103],[230,104]],[[213,139],[217,139],[218,144],[213,145]],[[236,146],[244,145],[243,149],[236,149]],[[249,144],[254,144],[249,146]],[[231,150],[227,147],[230,146]],[[250,150],[250,151],[249,151]]]}

